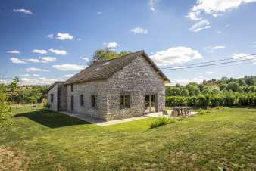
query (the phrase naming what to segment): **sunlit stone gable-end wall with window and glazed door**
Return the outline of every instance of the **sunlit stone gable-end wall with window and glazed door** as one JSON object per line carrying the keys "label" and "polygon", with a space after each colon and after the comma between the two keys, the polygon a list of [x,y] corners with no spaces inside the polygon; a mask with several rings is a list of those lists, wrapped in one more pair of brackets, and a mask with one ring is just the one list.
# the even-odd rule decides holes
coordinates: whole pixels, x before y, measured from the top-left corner
{"label": "sunlit stone gable-end wall with window and glazed door", "polygon": [[[157,111],[165,107],[164,80],[145,58],[136,58],[107,81],[106,120],[136,117],[145,114],[145,95],[157,95]],[[130,95],[130,108],[120,109],[120,95]]]}

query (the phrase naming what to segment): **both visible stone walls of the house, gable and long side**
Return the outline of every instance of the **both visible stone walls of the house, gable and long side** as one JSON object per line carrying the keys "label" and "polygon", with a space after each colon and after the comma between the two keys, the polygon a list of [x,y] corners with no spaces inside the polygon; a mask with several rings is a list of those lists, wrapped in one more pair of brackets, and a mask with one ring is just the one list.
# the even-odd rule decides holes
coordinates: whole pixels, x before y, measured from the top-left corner
{"label": "both visible stone walls of the house, gable and long side", "polygon": [[[120,108],[120,95],[130,95],[130,108]],[[73,95],[73,110],[71,96]],[[84,104],[80,104],[83,95]],[[91,95],[97,95],[97,106],[92,108]],[[164,79],[156,73],[145,58],[136,58],[109,79],[83,82],[67,86],[67,111],[96,117],[101,120],[116,120],[145,114],[145,95],[157,95],[157,111],[165,107]]]}

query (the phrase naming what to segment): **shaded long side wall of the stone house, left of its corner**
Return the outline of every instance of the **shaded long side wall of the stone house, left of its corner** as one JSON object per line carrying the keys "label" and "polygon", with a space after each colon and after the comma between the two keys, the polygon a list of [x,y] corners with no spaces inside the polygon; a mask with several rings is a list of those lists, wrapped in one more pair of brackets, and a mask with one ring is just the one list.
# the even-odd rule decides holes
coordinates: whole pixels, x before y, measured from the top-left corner
{"label": "shaded long side wall of the stone house, left of its corner", "polygon": [[[107,113],[106,93],[104,80],[93,82],[83,82],[67,86],[67,111],[70,113],[80,113],[105,120]],[[71,110],[71,95],[73,95],[73,111]],[[80,104],[80,95],[83,95],[84,104]],[[92,108],[91,95],[97,95],[97,106]]]}

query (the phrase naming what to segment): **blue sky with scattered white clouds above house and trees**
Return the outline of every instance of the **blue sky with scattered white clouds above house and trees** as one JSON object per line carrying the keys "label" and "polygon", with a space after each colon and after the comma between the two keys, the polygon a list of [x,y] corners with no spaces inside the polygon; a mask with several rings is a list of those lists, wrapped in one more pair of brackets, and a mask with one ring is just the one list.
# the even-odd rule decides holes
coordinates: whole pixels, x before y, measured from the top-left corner
{"label": "blue sky with scattered white clouds above house and trees", "polygon": [[[145,50],[159,67],[256,53],[256,0],[2,0],[2,82],[65,80],[99,48]],[[249,57],[254,58],[254,57]],[[164,71],[173,83],[256,75],[256,61]]]}

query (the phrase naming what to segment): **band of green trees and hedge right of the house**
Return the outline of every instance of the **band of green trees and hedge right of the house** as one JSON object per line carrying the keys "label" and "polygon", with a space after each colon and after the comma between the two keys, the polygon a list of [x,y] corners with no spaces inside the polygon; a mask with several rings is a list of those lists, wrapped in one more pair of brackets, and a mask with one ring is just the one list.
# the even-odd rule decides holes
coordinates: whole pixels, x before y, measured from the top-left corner
{"label": "band of green trees and hedge right of the house", "polygon": [[256,76],[240,79],[223,77],[189,83],[186,86],[167,86],[167,106],[217,107],[255,106]]}

